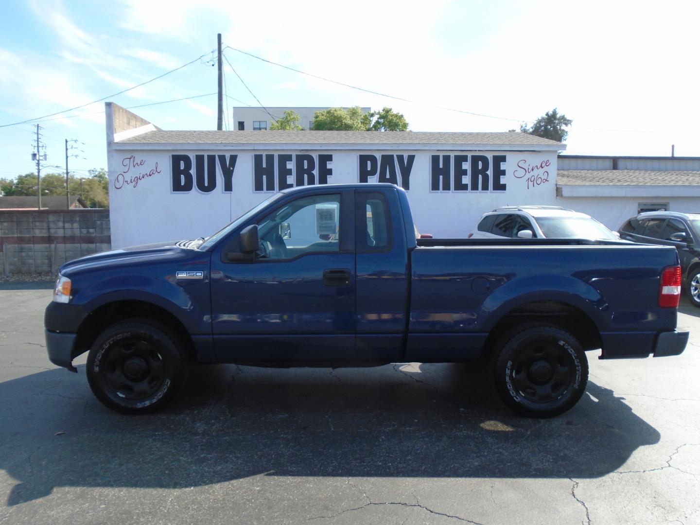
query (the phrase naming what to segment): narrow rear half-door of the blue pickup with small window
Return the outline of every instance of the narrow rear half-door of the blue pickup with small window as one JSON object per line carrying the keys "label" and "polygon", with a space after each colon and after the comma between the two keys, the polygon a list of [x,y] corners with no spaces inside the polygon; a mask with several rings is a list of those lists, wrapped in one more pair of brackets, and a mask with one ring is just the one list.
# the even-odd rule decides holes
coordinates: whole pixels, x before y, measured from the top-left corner
{"label": "narrow rear half-door of the blue pickup with small window", "polygon": [[409,268],[395,193],[393,188],[355,191],[356,356],[366,361],[391,362],[402,357]]}

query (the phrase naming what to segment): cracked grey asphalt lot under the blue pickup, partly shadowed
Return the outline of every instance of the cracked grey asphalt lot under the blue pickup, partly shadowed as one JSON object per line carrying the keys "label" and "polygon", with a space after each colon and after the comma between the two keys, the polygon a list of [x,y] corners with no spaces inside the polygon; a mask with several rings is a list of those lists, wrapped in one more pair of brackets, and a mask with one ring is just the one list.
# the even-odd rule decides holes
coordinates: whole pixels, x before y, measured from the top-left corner
{"label": "cracked grey asphalt lot under the blue pickup, partly shadowed", "polygon": [[[35,289],[31,289],[35,288]],[[36,289],[38,288],[38,289]],[[0,523],[700,524],[700,309],[682,356],[600,361],[555,419],[482,367],[198,365],[123,416],[51,365],[50,290],[0,287]]]}

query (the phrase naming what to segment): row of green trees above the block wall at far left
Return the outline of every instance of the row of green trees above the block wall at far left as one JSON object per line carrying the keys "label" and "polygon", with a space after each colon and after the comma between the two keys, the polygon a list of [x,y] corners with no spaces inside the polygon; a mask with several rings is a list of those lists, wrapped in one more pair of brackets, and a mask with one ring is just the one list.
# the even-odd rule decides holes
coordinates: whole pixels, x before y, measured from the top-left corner
{"label": "row of green trees above the block wall at far left", "polygon": [[[68,187],[71,195],[80,195],[91,208],[109,208],[109,177],[105,169],[90,169],[90,176],[80,179],[69,175]],[[0,190],[7,197],[36,197],[36,174],[18,175],[17,179],[0,179]],[[41,195],[66,195],[66,175],[48,173],[41,176]]]}

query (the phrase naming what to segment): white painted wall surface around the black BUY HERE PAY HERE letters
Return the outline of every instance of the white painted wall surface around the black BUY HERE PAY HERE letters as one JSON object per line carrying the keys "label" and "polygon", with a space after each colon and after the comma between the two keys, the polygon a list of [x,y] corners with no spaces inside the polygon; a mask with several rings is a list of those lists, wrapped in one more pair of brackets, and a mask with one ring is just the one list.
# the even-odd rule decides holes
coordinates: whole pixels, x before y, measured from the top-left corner
{"label": "white painted wall surface around the black BUY HERE PAY HERE letters", "polygon": [[[222,151],[162,151],[153,149],[108,149],[109,198],[113,248],[157,241],[206,237],[222,228],[274,192],[253,190],[255,153],[332,154],[329,183],[358,183],[359,155],[415,155],[408,190],[414,220],[421,232],[436,237],[466,237],[486,211],[516,204],[560,204],[556,199],[556,151],[253,151],[234,148]],[[134,144],[134,146],[138,146]],[[170,146],[172,147],[172,146]],[[223,174],[216,165],[216,189],[202,193],[196,186],[188,193],[172,191],[171,155],[233,155],[237,162],[232,191],[223,190]],[[431,191],[431,155],[505,155],[505,191]],[[545,166],[549,162],[548,166]],[[194,162],[193,162],[194,164]],[[532,174],[528,167],[542,166]],[[469,169],[469,165],[466,165]],[[292,173],[294,165],[291,165]],[[398,172],[398,167],[397,167]],[[545,172],[547,172],[545,174]],[[493,164],[489,168],[492,179]],[[193,168],[194,175],[194,168]],[[318,162],[316,162],[316,181]],[[530,179],[533,175],[533,179]],[[538,177],[539,176],[539,177]],[[294,175],[289,177],[294,181]],[[469,182],[469,176],[465,177]],[[377,177],[369,182],[377,182]],[[399,176],[399,183],[401,183]],[[560,199],[561,200],[561,199]]]}

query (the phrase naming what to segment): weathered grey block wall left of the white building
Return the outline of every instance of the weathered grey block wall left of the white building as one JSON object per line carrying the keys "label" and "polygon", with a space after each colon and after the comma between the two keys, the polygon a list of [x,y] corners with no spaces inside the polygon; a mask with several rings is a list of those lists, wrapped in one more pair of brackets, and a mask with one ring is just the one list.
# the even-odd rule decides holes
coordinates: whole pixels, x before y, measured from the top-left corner
{"label": "weathered grey block wall left of the white building", "polygon": [[55,273],[110,247],[109,209],[0,209],[0,276]]}

